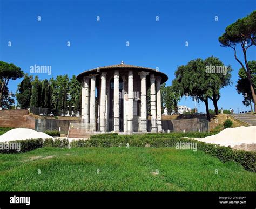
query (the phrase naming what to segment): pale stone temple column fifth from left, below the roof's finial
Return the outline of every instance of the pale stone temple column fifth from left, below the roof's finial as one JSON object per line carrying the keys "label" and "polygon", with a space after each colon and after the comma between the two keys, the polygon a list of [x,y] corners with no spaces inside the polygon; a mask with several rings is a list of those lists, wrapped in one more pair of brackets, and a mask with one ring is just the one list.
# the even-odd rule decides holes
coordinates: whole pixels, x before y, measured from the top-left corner
{"label": "pale stone temple column fifth from left, below the roof's finial", "polygon": [[128,108],[127,108],[127,131],[133,132],[133,73],[128,73]]}

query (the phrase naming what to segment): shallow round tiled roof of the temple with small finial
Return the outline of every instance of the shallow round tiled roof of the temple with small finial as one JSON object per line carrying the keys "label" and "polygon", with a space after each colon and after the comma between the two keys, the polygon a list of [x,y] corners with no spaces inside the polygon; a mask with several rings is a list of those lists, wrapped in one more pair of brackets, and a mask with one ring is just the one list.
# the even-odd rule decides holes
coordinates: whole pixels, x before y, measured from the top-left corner
{"label": "shallow round tiled roof of the temple with small finial", "polygon": [[101,71],[107,72],[108,70],[114,70],[114,69],[137,69],[138,71],[142,70],[142,71],[147,71],[147,72],[154,72],[156,74],[156,76],[160,76],[162,78],[161,83],[164,83],[168,80],[168,76],[166,74],[161,73],[161,72],[157,71],[156,69],[149,68],[149,67],[140,67],[140,66],[136,66],[136,65],[128,65],[128,64],[124,64],[123,61],[121,62],[121,64],[97,67],[97,68],[93,68],[93,69],[84,71],[83,73],[80,73],[79,75],[77,75],[77,80],[80,81],[84,76],[89,75],[89,74],[98,73]]}

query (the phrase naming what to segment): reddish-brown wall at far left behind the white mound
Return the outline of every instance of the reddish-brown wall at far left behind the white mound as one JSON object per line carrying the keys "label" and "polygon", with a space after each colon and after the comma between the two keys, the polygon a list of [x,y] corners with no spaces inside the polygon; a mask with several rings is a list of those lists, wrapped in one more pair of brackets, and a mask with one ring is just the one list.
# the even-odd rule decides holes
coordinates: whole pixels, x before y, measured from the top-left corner
{"label": "reddish-brown wall at far left behind the white mound", "polygon": [[24,109],[0,110],[0,127],[35,129],[35,118]]}

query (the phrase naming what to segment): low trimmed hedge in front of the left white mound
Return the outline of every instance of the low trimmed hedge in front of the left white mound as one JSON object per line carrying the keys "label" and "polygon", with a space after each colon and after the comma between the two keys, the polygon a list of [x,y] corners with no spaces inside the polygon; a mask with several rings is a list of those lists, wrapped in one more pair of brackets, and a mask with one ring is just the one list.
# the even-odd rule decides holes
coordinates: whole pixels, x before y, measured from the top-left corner
{"label": "low trimmed hedge in front of the left white mound", "polygon": [[[27,151],[31,151],[31,150],[43,147],[42,138],[30,139],[30,140],[16,140],[16,141],[10,141],[10,142],[21,143],[21,150],[19,152],[27,152]],[[3,142],[3,143],[6,143],[6,142]],[[14,149],[12,150],[0,149],[0,153],[18,153],[18,152]]]}

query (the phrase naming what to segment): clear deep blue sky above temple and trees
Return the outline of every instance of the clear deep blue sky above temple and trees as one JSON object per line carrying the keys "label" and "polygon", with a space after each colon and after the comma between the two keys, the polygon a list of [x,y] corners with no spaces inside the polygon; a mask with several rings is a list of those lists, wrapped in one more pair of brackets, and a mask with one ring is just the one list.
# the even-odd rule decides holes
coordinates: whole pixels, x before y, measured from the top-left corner
{"label": "clear deep blue sky above temple and trees", "polygon": [[[218,57],[230,64],[233,85],[221,89],[219,108],[250,110],[235,90],[240,65],[230,48],[220,47],[225,27],[249,15],[255,1],[0,1],[0,60],[30,74],[32,65],[52,66],[52,74],[78,75],[86,69],[119,64],[159,68],[171,85],[177,66]],[[37,17],[41,16],[41,21]],[[97,16],[100,21],[97,22]],[[159,16],[159,21],[156,21]],[[218,16],[218,21],[215,21]],[[8,46],[11,41],[11,47]],[[70,41],[70,47],[67,42]],[[129,41],[130,46],[126,46]],[[188,47],[185,42],[188,41]],[[255,47],[248,60],[255,60]],[[242,59],[241,51],[238,57]],[[16,92],[22,79],[10,81]],[[194,107],[192,99],[180,105]],[[200,103],[199,112],[205,112]],[[210,102],[210,109],[213,109]]]}

